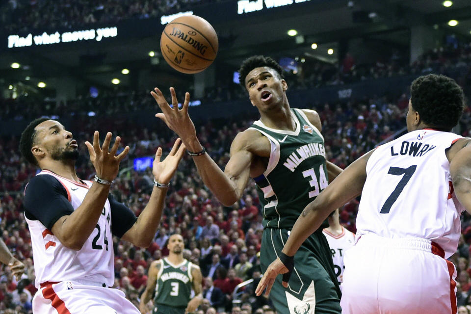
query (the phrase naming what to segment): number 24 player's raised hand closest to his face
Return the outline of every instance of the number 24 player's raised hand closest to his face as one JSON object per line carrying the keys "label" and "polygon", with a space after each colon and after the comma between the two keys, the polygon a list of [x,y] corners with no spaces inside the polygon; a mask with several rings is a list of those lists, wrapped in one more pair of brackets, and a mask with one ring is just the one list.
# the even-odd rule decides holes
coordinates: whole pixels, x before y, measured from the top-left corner
{"label": "number 24 player's raised hand closest to his face", "polygon": [[90,154],[90,161],[92,162],[97,172],[97,177],[106,181],[113,181],[118,175],[119,163],[123,160],[129,152],[129,146],[116,156],[118,151],[121,137],[116,136],[113,147],[109,149],[109,143],[111,142],[111,132],[106,133],[103,146],[100,147],[100,133],[95,131],[93,134],[93,145],[86,141],[85,145],[88,148]]}

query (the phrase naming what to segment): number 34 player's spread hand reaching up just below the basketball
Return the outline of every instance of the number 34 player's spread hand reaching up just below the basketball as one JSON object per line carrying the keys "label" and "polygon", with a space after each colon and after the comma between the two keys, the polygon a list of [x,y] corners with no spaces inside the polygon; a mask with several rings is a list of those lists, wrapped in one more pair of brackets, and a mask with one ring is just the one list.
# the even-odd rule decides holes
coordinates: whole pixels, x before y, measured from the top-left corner
{"label": "number 34 player's spread hand reaching up just below the basketball", "polygon": [[162,119],[167,127],[177,133],[183,143],[188,146],[192,140],[196,139],[195,125],[188,115],[190,94],[185,93],[185,100],[183,102],[182,109],[178,108],[177,95],[175,94],[175,89],[173,87],[170,87],[173,108],[167,103],[162,92],[157,87],[154,88],[151,95],[156,100],[160,110],[162,110],[162,113],[157,113],[156,117]]}

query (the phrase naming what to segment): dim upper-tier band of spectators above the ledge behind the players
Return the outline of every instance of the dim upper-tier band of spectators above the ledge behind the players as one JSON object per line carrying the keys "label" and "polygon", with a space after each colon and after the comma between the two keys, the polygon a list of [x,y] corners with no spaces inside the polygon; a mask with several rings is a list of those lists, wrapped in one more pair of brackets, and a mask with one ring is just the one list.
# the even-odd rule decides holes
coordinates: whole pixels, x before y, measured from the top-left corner
{"label": "dim upper-tier band of spectators above the ledge behind the players", "polygon": [[[349,60],[346,62],[346,60]],[[445,45],[419,56],[412,64],[404,63],[404,59],[392,57],[374,64],[356,64],[355,59],[347,53],[340,66],[307,60],[298,63],[296,74],[293,70],[285,71],[285,78],[289,90],[308,90],[328,85],[343,85],[352,82],[373,80],[377,78],[390,78],[404,75],[424,75],[440,73],[454,78],[463,86],[466,95],[471,95],[471,43]],[[221,75],[221,74],[217,74]],[[215,86],[207,87],[203,98],[199,99],[203,105],[246,99],[246,92],[232,80],[224,77],[215,79]],[[192,86],[174,86],[178,99],[184,98],[184,92],[193,95]],[[12,91],[13,92],[13,91]],[[74,101],[67,104],[55,101],[32,102],[31,97],[20,96],[13,99],[0,98],[0,117],[5,120],[30,120],[40,115],[70,116],[87,115],[92,111],[97,116],[112,114],[127,114],[135,111],[153,112],[157,109],[155,101],[149,97],[149,91],[140,93],[115,91],[101,91],[97,98],[89,94],[79,95]],[[405,95],[404,95],[405,96]],[[196,100],[196,99],[192,99]],[[407,104],[406,104],[407,105]],[[334,109],[334,108],[333,108]]]}

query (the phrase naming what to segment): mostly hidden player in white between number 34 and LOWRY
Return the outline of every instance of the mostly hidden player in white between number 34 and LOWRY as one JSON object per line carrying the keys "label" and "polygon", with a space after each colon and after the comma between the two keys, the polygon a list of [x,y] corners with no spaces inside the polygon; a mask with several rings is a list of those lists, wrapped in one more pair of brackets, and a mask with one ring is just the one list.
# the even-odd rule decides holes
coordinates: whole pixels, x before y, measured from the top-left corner
{"label": "mostly hidden player in white between number 34 and LOWRY", "polygon": [[[335,274],[340,285],[342,283],[343,269],[345,269],[343,257],[345,256],[345,251],[355,243],[355,235],[340,225],[339,209],[334,210],[329,215],[328,221],[329,227],[324,228],[322,233],[325,235],[327,242],[329,242]],[[342,287],[340,286],[340,288]]]}

